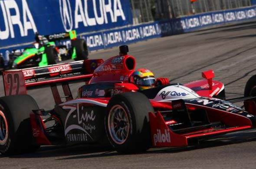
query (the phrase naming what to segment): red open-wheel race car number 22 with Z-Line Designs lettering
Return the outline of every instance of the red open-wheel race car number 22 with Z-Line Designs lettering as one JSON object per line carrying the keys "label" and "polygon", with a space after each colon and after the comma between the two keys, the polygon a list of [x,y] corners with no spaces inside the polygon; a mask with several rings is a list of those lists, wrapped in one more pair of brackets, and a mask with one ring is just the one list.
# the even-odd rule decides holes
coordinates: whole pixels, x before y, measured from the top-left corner
{"label": "red open-wheel race car number 22 with Z-Line Designs lettering", "polygon": [[[45,67],[3,71],[0,98],[0,152],[32,152],[40,145],[105,143],[120,153],[154,147],[188,146],[217,134],[255,128],[256,76],[245,96],[225,100],[224,85],[203,80],[160,84],[139,90],[131,82],[135,58],[120,54],[103,61],[84,60]],[[152,79],[152,78],[148,78]],[[69,82],[84,81],[73,97]],[[64,96],[57,84],[62,85]],[[49,86],[56,106],[39,108],[27,90]],[[65,100],[65,101],[63,101]],[[233,103],[244,101],[244,108]]]}

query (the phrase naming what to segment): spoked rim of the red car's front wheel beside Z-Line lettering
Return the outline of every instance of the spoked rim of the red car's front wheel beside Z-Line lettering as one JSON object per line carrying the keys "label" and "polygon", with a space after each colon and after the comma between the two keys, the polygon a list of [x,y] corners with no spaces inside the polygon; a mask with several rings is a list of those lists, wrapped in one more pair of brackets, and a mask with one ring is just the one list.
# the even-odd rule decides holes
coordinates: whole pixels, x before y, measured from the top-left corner
{"label": "spoked rim of the red car's front wheel beside Z-Line lettering", "polygon": [[123,107],[115,105],[108,114],[108,131],[116,144],[123,144],[128,138],[130,124]]}

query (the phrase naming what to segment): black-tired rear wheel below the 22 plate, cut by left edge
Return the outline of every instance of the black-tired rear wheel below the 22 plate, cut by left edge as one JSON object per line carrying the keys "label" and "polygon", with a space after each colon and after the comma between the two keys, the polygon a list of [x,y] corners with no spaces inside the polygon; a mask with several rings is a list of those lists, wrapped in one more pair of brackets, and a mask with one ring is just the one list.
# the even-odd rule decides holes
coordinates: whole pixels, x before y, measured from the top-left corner
{"label": "black-tired rear wheel below the 22 plate, cut by left edge", "polygon": [[[26,104],[24,104],[26,103]],[[0,97],[0,153],[13,155],[39,149],[32,136],[30,113],[39,109],[29,95]]]}

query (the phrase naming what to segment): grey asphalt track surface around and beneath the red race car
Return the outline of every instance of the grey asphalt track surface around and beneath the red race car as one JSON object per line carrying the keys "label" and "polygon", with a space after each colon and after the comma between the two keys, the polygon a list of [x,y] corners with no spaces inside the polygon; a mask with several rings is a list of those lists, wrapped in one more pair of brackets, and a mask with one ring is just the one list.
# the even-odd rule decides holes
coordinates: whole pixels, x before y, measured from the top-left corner
{"label": "grey asphalt track surface around and beneath the red race car", "polygon": [[[137,59],[136,68],[149,68],[156,77],[186,83],[201,79],[201,72],[213,69],[222,81],[227,97],[243,96],[246,81],[256,74],[256,23],[243,23],[214,29],[152,39],[129,46]],[[109,58],[118,48],[93,52],[90,58]],[[2,78],[0,78],[2,79]],[[0,88],[3,83],[0,81]],[[73,84],[75,93],[81,84]],[[48,90],[49,91],[49,90]],[[52,107],[52,94],[30,91],[39,107]],[[3,91],[0,93],[3,96]],[[184,168],[255,169],[256,131],[230,133],[186,148],[149,149],[146,153],[119,155],[97,146],[44,146],[39,152],[20,156],[0,155],[0,169],[44,168]]]}

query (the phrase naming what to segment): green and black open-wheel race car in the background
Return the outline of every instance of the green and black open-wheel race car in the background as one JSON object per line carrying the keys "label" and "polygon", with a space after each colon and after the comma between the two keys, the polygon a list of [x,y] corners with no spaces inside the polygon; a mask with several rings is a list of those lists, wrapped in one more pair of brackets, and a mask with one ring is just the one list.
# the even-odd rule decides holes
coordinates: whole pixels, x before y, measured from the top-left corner
{"label": "green and black open-wheel race car in the background", "polygon": [[[71,47],[67,48],[60,43],[61,40],[71,40]],[[88,58],[88,48],[84,39],[77,39],[75,30],[68,33],[56,33],[41,36],[36,33],[36,42],[23,52],[9,55],[9,63],[4,69],[27,68],[35,66],[53,65],[67,59],[85,60]]]}

